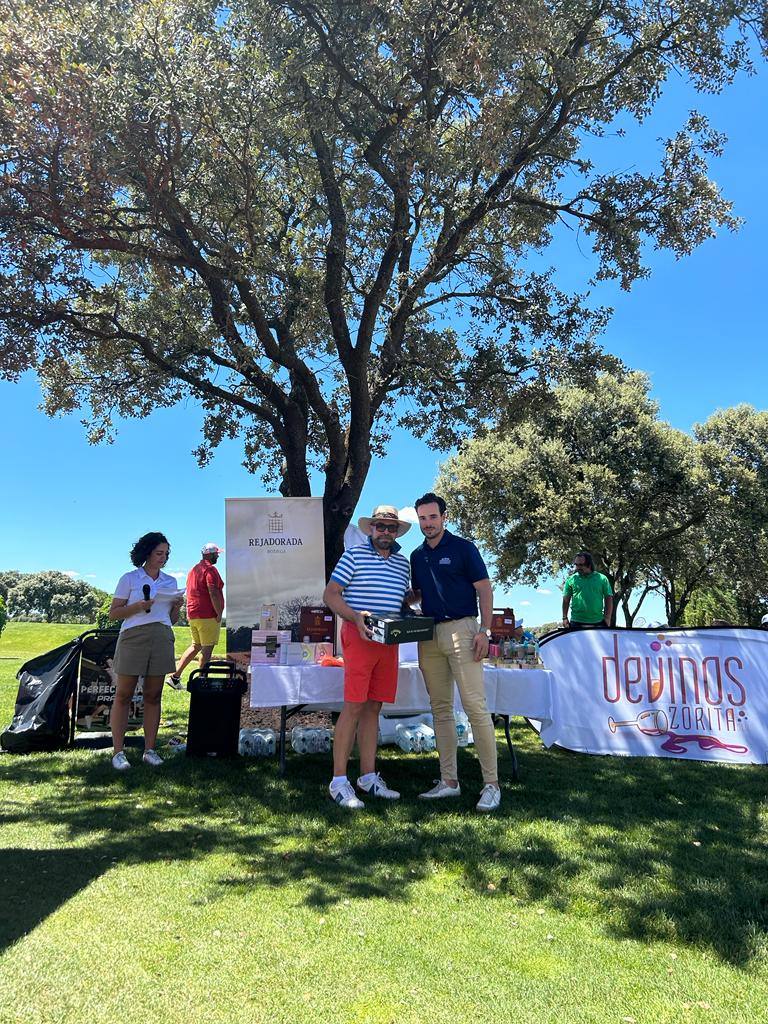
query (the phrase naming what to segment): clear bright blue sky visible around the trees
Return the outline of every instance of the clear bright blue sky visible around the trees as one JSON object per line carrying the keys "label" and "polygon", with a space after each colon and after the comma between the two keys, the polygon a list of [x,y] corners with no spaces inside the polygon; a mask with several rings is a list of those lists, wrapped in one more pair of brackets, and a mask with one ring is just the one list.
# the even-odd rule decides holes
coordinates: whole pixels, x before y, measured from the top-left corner
{"label": "clear bright blue sky visible around the trees", "polygon": [[[696,96],[682,84],[668,88],[653,118],[625,139],[597,140],[601,169],[653,166],[658,138],[671,135],[695,108],[728,136],[713,176],[744,218],[741,229],[722,232],[693,255],[676,261],[650,254],[652,274],[631,293],[601,286],[595,301],[613,306],[603,345],[630,367],[650,375],[664,419],[689,430],[715,410],[740,401],[768,407],[764,266],[768,238],[762,130],[768,75],[740,78],[719,96]],[[606,163],[607,162],[607,163]],[[594,262],[585,240],[567,234],[551,254],[563,289],[585,287]],[[91,446],[79,417],[50,420],[38,411],[40,391],[28,376],[0,382],[0,436],[4,498],[0,568],[56,568],[111,590],[130,567],[128,550],[140,534],[162,529],[171,541],[168,568],[185,573],[202,544],[224,543],[224,499],[264,497],[258,478],[240,465],[236,442],[225,442],[213,463],[199,469],[191,450],[202,417],[193,404],[161,410],[121,424],[114,444]],[[397,432],[388,456],[374,463],[357,509],[379,502],[413,504],[428,489],[445,453]],[[404,538],[408,553],[421,535]],[[504,595],[498,594],[497,603]],[[559,616],[557,582],[514,588],[507,600],[529,624]],[[662,618],[658,603],[644,605],[648,621]]]}

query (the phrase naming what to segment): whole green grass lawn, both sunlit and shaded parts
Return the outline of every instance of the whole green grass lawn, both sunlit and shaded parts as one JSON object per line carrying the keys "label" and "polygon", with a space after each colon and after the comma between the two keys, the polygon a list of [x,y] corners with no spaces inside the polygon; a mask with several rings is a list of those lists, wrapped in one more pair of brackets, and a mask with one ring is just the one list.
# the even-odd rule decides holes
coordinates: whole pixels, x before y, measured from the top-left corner
{"label": "whole green grass lawn, both sunlit and shaded parts", "polygon": [[[20,662],[81,630],[7,627],[3,725]],[[515,740],[490,817],[464,751],[446,808],[415,799],[436,757],[387,748],[402,800],[357,815],[328,757],[2,755],[0,1021],[765,1020],[765,769]]]}

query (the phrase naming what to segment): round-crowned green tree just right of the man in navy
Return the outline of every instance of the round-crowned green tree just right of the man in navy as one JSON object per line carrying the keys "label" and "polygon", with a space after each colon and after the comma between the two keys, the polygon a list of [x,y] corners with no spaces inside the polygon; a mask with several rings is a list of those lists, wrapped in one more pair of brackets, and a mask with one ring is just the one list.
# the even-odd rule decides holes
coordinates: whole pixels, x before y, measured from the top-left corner
{"label": "round-crowned green tree just right of the man in navy", "polygon": [[[502,583],[535,584],[595,556],[631,626],[653,553],[707,513],[693,441],[657,418],[640,373],[558,387],[514,433],[489,430],[441,469],[452,518],[495,559]],[[638,594],[639,589],[639,594]]]}

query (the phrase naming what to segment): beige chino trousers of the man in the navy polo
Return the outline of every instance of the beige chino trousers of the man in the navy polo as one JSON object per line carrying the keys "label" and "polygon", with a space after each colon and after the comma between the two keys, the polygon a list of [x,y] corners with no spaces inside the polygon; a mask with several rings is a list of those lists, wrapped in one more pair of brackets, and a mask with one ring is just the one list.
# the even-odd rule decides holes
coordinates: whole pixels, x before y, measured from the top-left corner
{"label": "beige chino trousers of the man in the navy polo", "polygon": [[496,730],[485,702],[482,662],[475,662],[472,640],[477,633],[475,618],[437,623],[432,640],[419,644],[419,668],[432,706],[440,778],[458,778],[456,752],[459,741],[454,717],[454,680],[459,687],[464,711],[472,725],[475,750],[483,782],[499,777]]}

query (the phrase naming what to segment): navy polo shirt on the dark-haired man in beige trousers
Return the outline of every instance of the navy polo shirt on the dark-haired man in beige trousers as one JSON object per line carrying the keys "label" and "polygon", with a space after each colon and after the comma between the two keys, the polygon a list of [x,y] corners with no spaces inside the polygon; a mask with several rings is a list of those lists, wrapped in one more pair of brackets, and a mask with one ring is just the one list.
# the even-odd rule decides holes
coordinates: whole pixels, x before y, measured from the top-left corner
{"label": "navy polo shirt on the dark-haired man in beige trousers", "polygon": [[468,615],[476,618],[474,584],[487,579],[485,562],[474,544],[447,530],[436,547],[424,541],[411,555],[411,586],[421,591],[423,614],[436,623]]}

